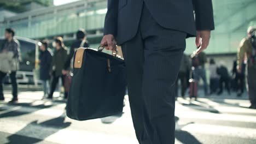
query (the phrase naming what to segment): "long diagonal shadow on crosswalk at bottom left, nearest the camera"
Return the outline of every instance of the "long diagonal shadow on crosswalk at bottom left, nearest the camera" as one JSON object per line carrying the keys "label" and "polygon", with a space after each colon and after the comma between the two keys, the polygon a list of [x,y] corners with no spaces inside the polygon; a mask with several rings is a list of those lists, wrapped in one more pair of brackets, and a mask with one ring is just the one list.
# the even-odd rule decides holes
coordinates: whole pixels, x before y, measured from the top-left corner
{"label": "long diagonal shadow on crosswalk at bottom left, nearest the camera", "polygon": [[[8,137],[9,144],[17,143],[18,141],[22,141],[26,144],[38,143],[43,141],[46,137],[57,133],[57,131],[61,129],[65,129],[71,125],[70,122],[65,121],[65,113],[61,116],[53,119],[49,119],[48,121],[38,123],[38,121],[33,121],[26,125],[23,129],[19,130],[17,133]],[[35,127],[36,126],[36,127]],[[42,130],[43,128],[48,128],[48,130]],[[21,135],[27,136],[37,136],[39,139],[34,139],[31,137],[26,137]]]}

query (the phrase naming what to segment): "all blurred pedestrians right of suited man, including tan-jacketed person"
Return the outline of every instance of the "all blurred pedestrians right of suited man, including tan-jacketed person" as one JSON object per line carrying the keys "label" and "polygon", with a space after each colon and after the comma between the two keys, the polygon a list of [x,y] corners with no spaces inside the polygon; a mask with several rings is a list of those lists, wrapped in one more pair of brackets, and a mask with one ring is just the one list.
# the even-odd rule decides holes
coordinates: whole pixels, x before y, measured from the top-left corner
{"label": "all blurred pedestrians right of suited man, including tan-jacketed person", "polygon": [[[214,93],[220,95],[225,87],[229,95],[233,90],[237,97],[241,97],[247,87],[251,101],[249,108],[256,109],[256,28],[249,27],[247,33],[248,37],[242,39],[238,47],[237,58],[233,62],[232,70],[228,70],[227,63],[222,60],[216,64],[214,58],[210,58],[208,63],[205,52],[201,52],[199,55],[184,55],[176,81],[176,97],[179,95],[179,80],[181,81],[181,97],[184,98],[185,92],[191,86],[191,80],[198,83],[201,79],[205,96]],[[207,63],[209,66],[206,68]],[[210,71],[210,85],[207,83],[207,70]]]}

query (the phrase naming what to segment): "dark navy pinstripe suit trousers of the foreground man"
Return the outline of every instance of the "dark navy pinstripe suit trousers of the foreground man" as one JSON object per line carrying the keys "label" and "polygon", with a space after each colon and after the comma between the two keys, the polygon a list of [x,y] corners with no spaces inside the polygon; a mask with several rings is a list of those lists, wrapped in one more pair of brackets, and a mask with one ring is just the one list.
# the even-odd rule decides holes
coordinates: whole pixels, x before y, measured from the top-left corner
{"label": "dark navy pinstripe suit trousers of the foreground man", "polygon": [[122,45],[132,121],[141,144],[174,143],[174,84],[186,37],[161,27],[144,5],[137,34]]}

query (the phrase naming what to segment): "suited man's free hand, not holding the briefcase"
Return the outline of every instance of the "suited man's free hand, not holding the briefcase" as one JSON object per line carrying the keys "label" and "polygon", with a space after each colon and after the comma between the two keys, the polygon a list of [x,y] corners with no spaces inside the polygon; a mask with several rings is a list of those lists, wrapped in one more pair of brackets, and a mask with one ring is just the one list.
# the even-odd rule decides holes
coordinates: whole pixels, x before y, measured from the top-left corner
{"label": "suited man's free hand, not holding the briefcase", "polygon": [[210,38],[211,38],[211,31],[206,30],[206,31],[196,32],[196,40],[195,40],[196,46],[199,47],[201,45],[201,47],[196,50],[196,54],[199,54],[200,52],[202,52],[207,48],[207,46],[210,43]]}

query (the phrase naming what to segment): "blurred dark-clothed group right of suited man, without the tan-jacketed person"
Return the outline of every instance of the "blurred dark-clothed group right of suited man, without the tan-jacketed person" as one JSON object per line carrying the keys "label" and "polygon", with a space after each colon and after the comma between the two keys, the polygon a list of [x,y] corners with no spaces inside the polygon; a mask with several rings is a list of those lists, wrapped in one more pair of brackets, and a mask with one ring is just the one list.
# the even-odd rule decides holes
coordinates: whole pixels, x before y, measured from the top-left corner
{"label": "blurred dark-clothed group right of suited man, without the tan-jacketed person", "polygon": [[[206,64],[208,67],[206,68]],[[241,97],[245,88],[245,64],[243,64],[242,73],[238,73],[237,60],[234,61],[234,68],[232,71],[228,70],[224,61],[220,61],[216,64],[214,58],[207,60],[205,52],[201,52],[197,55],[197,60],[184,55],[182,60],[181,69],[179,70],[178,79],[176,81],[176,92],[178,91],[178,82],[181,83],[181,96],[185,97],[185,91],[190,86],[189,80],[194,79],[197,82],[202,80],[202,86],[205,96],[212,94],[221,95],[225,87],[228,94],[231,94],[231,90],[237,92],[237,97]],[[207,70],[210,73],[207,80]],[[210,81],[210,83],[208,83]],[[178,92],[176,94],[179,95]]]}

